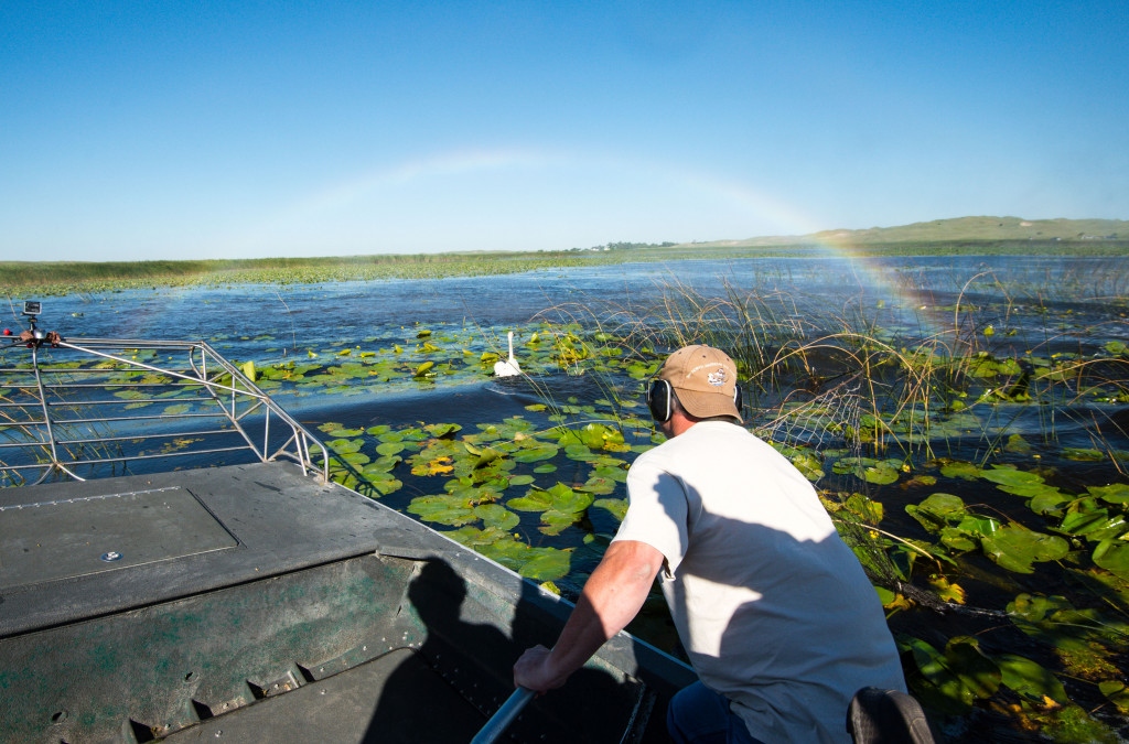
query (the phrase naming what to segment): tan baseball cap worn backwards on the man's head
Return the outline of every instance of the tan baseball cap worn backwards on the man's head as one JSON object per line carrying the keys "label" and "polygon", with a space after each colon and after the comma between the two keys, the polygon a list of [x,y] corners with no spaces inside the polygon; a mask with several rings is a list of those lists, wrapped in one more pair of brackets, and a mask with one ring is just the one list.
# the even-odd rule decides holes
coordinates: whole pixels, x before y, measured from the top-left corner
{"label": "tan baseball cap worn backwards on the man's head", "polygon": [[720,349],[683,347],[666,358],[658,376],[671,383],[682,408],[691,415],[699,419],[732,415],[742,420],[735,402],[737,366]]}

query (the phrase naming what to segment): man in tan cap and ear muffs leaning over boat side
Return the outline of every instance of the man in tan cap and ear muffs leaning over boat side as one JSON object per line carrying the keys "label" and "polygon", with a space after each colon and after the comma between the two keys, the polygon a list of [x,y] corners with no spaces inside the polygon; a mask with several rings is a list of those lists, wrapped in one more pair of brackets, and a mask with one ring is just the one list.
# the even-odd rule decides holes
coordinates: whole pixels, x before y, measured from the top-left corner
{"label": "man in tan cap and ear muffs leaning over boat side", "polygon": [[627,516],[552,649],[514,682],[545,692],[639,612],[656,576],[699,682],[671,701],[676,742],[850,742],[863,688],[905,690],[861,566],[811,483],[742,423],[733,360],[671,355],[648,392],[667,441],[628,473]]}

